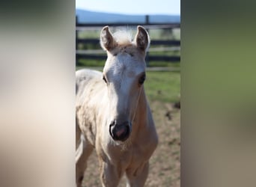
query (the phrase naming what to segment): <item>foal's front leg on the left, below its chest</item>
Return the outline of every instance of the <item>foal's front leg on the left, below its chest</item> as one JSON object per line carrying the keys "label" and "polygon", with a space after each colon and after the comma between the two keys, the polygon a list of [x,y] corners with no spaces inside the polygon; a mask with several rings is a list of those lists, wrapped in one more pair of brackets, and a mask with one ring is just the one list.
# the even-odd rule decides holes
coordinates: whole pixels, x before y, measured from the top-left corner
{"label": "foal's front leg on the left, below its chest", "polygon": [[100,181],[103,187],[116,187],[118,186],[119,180],[122,177],[121,172],[118,172],[118,168],[114,165],[100,161]]}

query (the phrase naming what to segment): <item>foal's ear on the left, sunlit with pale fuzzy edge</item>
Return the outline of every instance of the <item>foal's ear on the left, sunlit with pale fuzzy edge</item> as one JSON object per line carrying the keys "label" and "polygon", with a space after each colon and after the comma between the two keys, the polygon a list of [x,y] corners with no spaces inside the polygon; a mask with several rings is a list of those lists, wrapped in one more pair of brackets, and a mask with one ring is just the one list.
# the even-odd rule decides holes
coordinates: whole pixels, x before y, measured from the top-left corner
{"label": "foal's ear on the left, sunlit with pale fuzzy edge", "polygon": [[116,46],[115,39],[109,31],[109,26],[103,27],[100,32],[100,46],[107,51],[114,49]]}

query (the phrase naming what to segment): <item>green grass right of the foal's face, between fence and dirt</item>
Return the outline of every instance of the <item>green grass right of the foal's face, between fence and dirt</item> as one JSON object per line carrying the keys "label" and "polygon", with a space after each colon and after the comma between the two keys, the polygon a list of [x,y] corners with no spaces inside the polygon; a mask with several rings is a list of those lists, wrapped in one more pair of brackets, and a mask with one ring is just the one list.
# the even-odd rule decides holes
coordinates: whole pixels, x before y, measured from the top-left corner
{"label": "green grass right of the foal's face, between fence and dirt", "polygon": [[144,88],[150,101],[177,102],[180,100],[180,72],[148,71]]}

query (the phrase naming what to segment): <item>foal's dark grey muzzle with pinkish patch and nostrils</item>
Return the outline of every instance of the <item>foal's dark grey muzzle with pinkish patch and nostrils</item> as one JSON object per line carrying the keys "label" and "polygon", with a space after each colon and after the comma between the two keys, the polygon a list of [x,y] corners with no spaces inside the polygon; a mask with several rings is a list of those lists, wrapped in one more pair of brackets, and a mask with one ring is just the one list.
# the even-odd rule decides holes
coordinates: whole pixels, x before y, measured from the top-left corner
{"label": "foal's dark grey muzzle with pinkish patch and nostrils", "polygon": [[115,122],[109,125],[109,134],[115,141],[126,141],[129,138],[130,126],[129,122],[116,124]]}

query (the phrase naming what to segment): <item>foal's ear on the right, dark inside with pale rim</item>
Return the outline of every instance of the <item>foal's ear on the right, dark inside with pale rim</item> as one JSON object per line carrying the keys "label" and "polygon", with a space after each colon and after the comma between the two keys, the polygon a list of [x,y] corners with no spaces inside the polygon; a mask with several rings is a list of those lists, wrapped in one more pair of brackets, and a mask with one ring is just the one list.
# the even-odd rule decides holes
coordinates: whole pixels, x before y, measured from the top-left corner
{"label": "foal's ear on the right, dark inside with pale rim", "polygon": [[137,27],[135,42],[138,49],[141,49],[143,52],[147,51],[148,47],[150,46],[150,37],[146,29],[140,25]]}

